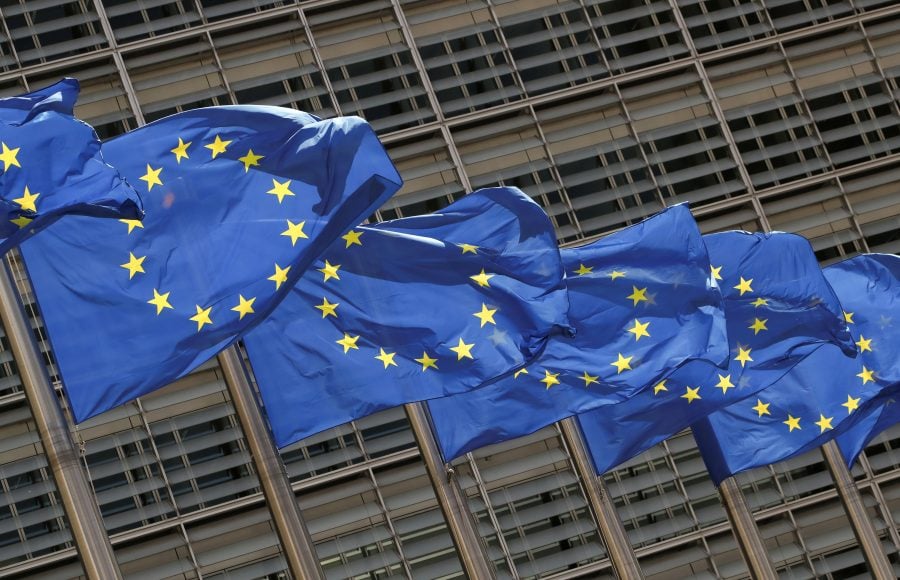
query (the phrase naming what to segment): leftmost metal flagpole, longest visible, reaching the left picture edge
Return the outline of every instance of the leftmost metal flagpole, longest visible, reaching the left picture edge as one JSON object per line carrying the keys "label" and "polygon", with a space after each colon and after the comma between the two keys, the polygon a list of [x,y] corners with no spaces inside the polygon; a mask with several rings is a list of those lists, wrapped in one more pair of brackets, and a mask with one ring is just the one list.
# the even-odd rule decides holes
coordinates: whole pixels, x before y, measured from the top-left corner
{"label": "leftmost metal flagpole, longest visible, reaching the left picture edge", "polygon": [[75,540],[85,575],[96,580],[121,579],[109,535],[100,517],[94,491],[69,434],[56,391],[50,384],[31,325],[15,290],[9,264],[0,272],[0,320],[15,357],[25,397],[41,437],[47,463]]}

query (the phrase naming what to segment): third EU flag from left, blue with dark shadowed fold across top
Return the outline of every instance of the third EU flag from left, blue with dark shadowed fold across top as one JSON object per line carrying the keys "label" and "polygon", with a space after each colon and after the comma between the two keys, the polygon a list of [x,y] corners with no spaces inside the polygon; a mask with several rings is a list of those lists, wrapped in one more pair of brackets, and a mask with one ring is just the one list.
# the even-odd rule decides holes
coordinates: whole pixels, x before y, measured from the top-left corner
{"label": "third EU flag from left, blue with dark shadowed fold across top", "polygon": [[568,302],[553,226],[521,191],[355,228],[244,339],[276,444],[522,366]]}

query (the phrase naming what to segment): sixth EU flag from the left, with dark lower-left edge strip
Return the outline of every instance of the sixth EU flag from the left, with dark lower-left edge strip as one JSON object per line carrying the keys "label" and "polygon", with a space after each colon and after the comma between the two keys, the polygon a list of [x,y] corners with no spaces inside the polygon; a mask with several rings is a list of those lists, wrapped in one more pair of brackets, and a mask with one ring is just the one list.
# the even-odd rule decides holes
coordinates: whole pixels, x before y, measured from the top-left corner
{"label": "sixth EU flag from the left, with dark lower-left edge strip", "polygon": [[[841,301],[857,356],[825,345],[755,396],[695,424],[697,445],[717,484],[815,449],[862,418],[867,402],[900,381],[900,329],[890,322],[900,303],[900,258],[857,256],[824,274]],[[852,448],[854,457],[860,450]]]}

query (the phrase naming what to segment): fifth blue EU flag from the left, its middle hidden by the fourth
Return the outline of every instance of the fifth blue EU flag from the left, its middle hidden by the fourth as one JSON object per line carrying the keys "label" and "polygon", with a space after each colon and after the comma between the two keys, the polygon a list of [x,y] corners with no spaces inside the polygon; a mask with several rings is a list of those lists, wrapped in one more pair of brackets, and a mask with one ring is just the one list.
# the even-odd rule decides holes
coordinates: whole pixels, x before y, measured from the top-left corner
{"label": "fifth blue EU flag from the left, its middle hidden by the fourth", "polygon": [[597,473],[768,387],[824,344],[855,352],[840,303],[804,238],[723,232],[704,240],[725,294],[728,368],[685,365],[622,404],[580,416]]}

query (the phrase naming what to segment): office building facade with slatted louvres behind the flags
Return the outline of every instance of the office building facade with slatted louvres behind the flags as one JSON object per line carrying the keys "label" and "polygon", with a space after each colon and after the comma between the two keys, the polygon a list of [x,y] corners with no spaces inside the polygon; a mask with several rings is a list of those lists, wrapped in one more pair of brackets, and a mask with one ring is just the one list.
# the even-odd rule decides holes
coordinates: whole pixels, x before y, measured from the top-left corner
{"label": "office building facade with slatted louvres behind the flags", "polygon": [[[0,95],[77,77],[77,114],[104,137],[233,103],[365,117],[406,182],[373,219],[505,184],[561,244],[689,201],[705,232],[797,232],[823,264],[900,250],[891,0],[0,0],[0,15]],[[0,577],[79,577],[5,337],[0,375]],[[289,576],[214,361],[72,437],[127,578]],[[402,409],[282,457],[329,578],[464,576]],[[500,578],[614,577],[557,427],[455,471]],[[900,575],[900,426],[853,475]],[[648,578],[748,577],[689,431],[604,479]],[[738,481],[781,577],[867,576],[818,451]]]}

